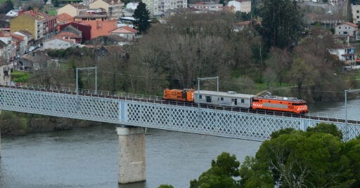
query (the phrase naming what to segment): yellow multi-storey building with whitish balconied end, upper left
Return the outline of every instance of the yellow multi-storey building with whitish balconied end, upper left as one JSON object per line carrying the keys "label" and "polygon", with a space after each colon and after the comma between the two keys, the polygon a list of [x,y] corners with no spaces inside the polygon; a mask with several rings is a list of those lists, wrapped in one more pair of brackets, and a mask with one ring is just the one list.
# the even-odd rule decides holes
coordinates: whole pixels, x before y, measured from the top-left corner
{"label": "yellow multi-storey building with whitish balconied end, upper left", "polygon": [[11,32],[27,30],[35,40],[56,30],[56,17],[35,11],[25,11],[10,20]]}

